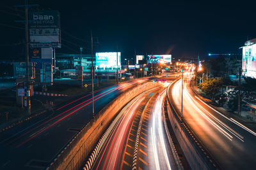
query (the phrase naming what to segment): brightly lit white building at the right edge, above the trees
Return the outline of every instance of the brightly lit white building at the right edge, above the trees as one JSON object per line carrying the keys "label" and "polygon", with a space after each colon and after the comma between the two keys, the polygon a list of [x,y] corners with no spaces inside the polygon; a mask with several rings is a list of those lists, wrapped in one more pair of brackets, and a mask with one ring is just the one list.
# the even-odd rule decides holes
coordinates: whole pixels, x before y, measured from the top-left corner
{"label": "brightly lit white building at the right edge, above the trees", "polygon": [[244,43],[242,73],[244,76],[256,78],[256,38]]}

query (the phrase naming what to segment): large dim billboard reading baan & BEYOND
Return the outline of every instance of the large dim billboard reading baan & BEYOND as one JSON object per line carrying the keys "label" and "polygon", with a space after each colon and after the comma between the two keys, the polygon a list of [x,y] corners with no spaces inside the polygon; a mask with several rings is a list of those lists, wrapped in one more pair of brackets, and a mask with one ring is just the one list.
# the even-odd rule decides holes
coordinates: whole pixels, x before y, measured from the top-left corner
{"label": "large dim billboard reading baan & BEYOND", "polygon": [[60,48],[60,13],[54,10],[29,12],[29,42],[34,48]]}

